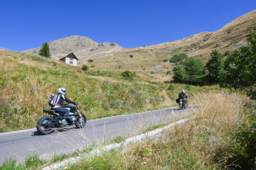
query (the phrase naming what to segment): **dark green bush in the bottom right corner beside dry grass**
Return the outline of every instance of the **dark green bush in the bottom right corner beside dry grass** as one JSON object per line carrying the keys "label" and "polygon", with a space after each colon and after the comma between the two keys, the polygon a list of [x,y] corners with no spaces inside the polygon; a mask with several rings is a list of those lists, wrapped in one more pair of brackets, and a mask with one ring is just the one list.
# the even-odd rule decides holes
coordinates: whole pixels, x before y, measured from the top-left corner
{"label": "dark green bush in the bottom right corner beside dry grass", "polygon": [[[254,106],[255,107],[255,106]],[[230,144],[222,147],[215,154],[215,161],[225,165],[233,165],[232,169],[256,169],[256,114],[250,109],[245,110],[245,120],[230,134]],[[227,157],[227,155],[232,155]]]}

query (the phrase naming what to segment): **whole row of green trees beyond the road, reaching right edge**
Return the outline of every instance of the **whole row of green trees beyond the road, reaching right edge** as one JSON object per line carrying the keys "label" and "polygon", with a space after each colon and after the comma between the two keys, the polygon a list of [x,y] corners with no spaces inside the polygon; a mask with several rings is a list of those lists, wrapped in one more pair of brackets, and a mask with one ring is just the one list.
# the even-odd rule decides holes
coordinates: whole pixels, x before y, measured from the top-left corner
{"label": "whole row of green trees beyond the road, reaching right edge", "polygon": [[220,84],[222,87],[241,89],[256,100],[256,26],[247,35],[247,46],[221,54],[210,53],[204,66],[198,59],[188,58],[174,68],[174,81],[186,84]]}

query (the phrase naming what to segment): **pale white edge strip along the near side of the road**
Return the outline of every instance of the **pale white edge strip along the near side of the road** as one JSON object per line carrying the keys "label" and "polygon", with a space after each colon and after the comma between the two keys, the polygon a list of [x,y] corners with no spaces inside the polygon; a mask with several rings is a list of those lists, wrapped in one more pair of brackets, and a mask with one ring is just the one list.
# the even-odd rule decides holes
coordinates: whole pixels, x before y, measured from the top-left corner
{"label": "pale white edge strip along the near side of the road", "polygon": [[110,152],[110,150],[117,149],[119,147],[124,147],[124,149],[125,149],[125,147],[127,147],[127,145],[129,145],[132,142],[141,142],[144,139],[155,137],[156,135],[161,134],[161,132],[163,132],[164,130],[167,130],[171,127],[174,127],[175,125],[180,125],[182,123],[186,123],[188,120],[191,120],[193,118],[194,118],[194,116],[189,117],[189,118],[184,118],[182,120],[178,120],[175,123],[171,123],[169,125],[164,126],[163,128],[158,128],[156,130],[152,130],[152,131],[146,132],[142,135],[137,135],[135,137],[129,137],[128,139],[126,139],[122,142],[114,143],[112,145],[107,145],[107,146],[102,147],[100,149],[95,149],[94,151],[90,152],[90,154],[84,154],[81,157],[70,158],[70,159],[65,160],[63,162],[60,162],[58,164],[53,164],[51,166],[47,166],[47,167],[43,168],[42,170],[60,169],[60,168],[65,167],[68,164],[75,164],[80,159],[82,159],[82,157],[90,158],[90,157],[93,157],[95,155],[100,155],[100,154],[102,154],[102,152]]}

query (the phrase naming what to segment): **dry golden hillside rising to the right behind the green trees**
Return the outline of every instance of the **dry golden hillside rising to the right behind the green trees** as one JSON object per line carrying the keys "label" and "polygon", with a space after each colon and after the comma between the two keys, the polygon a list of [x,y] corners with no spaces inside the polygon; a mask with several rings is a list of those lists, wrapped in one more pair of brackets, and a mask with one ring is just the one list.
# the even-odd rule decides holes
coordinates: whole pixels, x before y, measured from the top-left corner
{"label": "dry golden hillside rising to the right behind the green trees", "polygon": [[[225,54],[228,51],[233,52],[242,45],[247,45],[246,35],[255,23],[256,11],[252,11],[236,18],[216,32],[198,33],[182,40],[159,45],[122,49],[112,55],[91,58],[95,62],[86,64],[90,67],[95,66],[93,69],[114,72],[123,72],[129,69],[145,79],[168,81],[169,77],[166,76],[166,72],[171,71],[174,65],[163,62],[164,60],[169,60],[174,55],[186,54],[188,57],[198,58],[206,63],[210,59],[212,50],[218,50]],[[82,60],[82,62],[87,60]],[[156,65],[160,66],[159,69],[151,72],[149,69]]]}

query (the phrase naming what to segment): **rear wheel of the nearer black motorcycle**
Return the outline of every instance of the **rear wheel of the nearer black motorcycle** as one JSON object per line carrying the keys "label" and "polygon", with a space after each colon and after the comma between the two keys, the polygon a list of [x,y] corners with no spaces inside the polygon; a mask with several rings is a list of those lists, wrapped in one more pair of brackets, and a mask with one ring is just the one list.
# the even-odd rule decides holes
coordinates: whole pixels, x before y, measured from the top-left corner
{"label": "rear wheel of the nearer black motorcycle", "polygon": [[38,123],[36,123],[36,129],[38,132],[40,132],[43,135],[48,135],[54,131],[53,128],[49,128],[47,126],[48,123],[53,121],[53,118],[50,118],[49,116],[44,116],[43,118],[40,118],[38,120]]}

